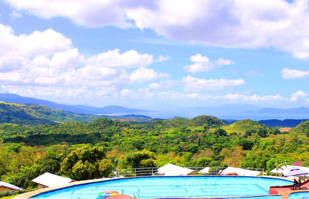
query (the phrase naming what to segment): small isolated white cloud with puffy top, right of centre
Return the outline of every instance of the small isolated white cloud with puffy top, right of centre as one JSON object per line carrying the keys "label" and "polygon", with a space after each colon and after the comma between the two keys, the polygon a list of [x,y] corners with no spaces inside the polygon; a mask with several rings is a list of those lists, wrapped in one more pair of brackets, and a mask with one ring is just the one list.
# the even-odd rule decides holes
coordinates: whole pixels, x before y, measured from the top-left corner
{"label": "small isolated white cloud with puffy top, right of centre", "polygon": [[213,70],[216,67],[220,67],[222,65],[230,65],[235,64],[234,61],[229,59],[219,58],[216,61],[210,61],[207,56],[202,56],[201,54],[197,53],[196,55],[190,56],[190,60],[195,62],[192,65],[184,66],[184,71],[190,73],[197,73],[197,72],[204,72]]}

